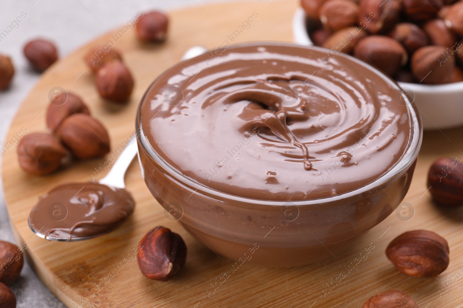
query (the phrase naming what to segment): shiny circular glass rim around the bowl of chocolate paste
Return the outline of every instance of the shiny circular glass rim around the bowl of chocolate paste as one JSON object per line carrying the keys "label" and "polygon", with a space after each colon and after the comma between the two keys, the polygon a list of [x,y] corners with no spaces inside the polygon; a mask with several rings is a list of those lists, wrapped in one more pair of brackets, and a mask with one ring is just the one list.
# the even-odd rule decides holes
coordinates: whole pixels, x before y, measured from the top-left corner
{"label": "shiny circular glass rim around the bowl of chocolate paste", "polygon": [[[241,44],[236,44],[228,47],[227,49],[235,49],[239,47],[244,47],[244,46],[259,46],[259,47],[265,47],[265,46],[287,46],[288,48],[305,48],[305,49],[315,49],[319,51],[324,51],[326,50],[325,48],[317,47],[317,46],[303,46],[300,44],[295,44],[295,43],[287,43],[287,42],[248,42],[248,43],[241,43]],[[209,51],[208,51],[209,52]],[[419,149],[421,147],[421,142],[423,139],[423,127],[421,123],[421,118],[419,116],[418,109],[416,108],[414,103],[410,103],[408,101],[408,98],[405,96],[404,99],[408,101],[406,104],[408,113],[410,115],[410,118],[413,120],[411,122],[411,133],[410,133],[410,140],[408,141],[408,145],[404,153],[402,154],[402,157],[400,160],[391,168],[389,169],[386,173],[381,175],[379,178],[377,178],[375,181],[371,181],[366,185],[363,185],[361,187],[358,187],[354,190],[345,192],[345,193],[340,193],[334,196],[328,196],[328,197],[323,197],[323,198],[318,198],[318,199],[306,199],[306,200],[286,200],[286,201],[273,201],[273,200],[263,200],[263,199],[252,199],[252,198],[246,198],[246,197],[241,197],[229,193],[224,193],[220,192],[218,190],[212,189],[210,187],[207,187],[204,184],[201,184],[197,181],[194,181],[187,176],[181,174],[178,170],[176,170],[174,167],[170,166],[169,163],[163,160],[163,158],[156,153],[156,151],[152,148],[150,142],[146,138],[146,135],[144,134],[143,127],[141,125],[142,123],[142,115],[141,115],[141,109],[143,106],[143,103],[150,92],[151,88],[156,85],[157,82],[159,82],[159,79],[161,79],[164,75],[166,75],[170,70],[173,68],[176,68],[177,66],[182,66],[185,65],[188,62],[193,62],[197,58],[204,56],[204,54],[201,54],[199,56],[196,56],[194,58],[180,61],[176,63],[174,66],[171,66],[168,68],[166,71],[164,71],[159,77],[157,77],[153,83],[148,87],[148,89],[145,91],[143,97],[140,100],[140,103],[138,104],[137,108],[137,115],[135,119],[135,128],[137,133],[137,141],[139,145],[142,147],[142,149],[147,152],[150,157],[158,163],[164,170],[166,170],[169,173],[169,176],[171,179],[175,179],[179,183],[181,183],[183,186],[187,186],[188,189],[193,191],[194,193],[202,193],[205,196],[216,196],[221,199],[226,199],[226,200],[233,200],[235,201],[233,205],[239,206],[239,204],[253,204],[253,205],[267,205],[267,206],[288,206],[290,205],[296,205],[296,206],[310,206],[310,205],[319,205],[323,203],[328,203],[328,202],[333,202],[333,201],[338,201],[342,199],[348,199],[353,196],[357,196],[359,194],[363,194],[368,192],[369,190],[374,190],[377,187],[381,187],[382,184],[388,182],[392,178],[394,178],[396,175],[399,175],[406,169],[408,169],[413,162],[416,160],[416,157],[418,156]],[[347,60],[356,62],[357,64],[364,66],[365,68],[369,69],[372,72],[375,72],[378,74],[385,82],[389,83],[393,87],[396,87],[398,90],[402,90],[397,83],[394,82],[393,79],[388,78],[385,74],[382,72],[378,71],[374,67],[368,65],[367,63],[358,60],[354,57],[351,57],[347,54],[342,54],[338,53],[337,56],[341,56],[346,58]],[[144,168],[141,165],[141,161],[139,160],[140,167],[142,169],[142,174],[144,174]],[[198,187],[194,189],[193,187]],[[381,187],[382,188],[382,187]]]}

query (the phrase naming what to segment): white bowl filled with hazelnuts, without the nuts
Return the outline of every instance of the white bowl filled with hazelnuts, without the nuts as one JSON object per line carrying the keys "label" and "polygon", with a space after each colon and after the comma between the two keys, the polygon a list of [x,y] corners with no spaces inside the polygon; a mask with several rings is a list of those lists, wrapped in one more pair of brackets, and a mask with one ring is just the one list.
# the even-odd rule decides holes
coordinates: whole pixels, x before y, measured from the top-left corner
{"label": "white bowl filled with hazelnuts, without the nuts", "polygon": [[[294,42],[313,45],[306,28],[306,14],[298,8],[293,18]],[[398,82],[415,103],[425,130],[436,130],[463,125],[463,82],[445,85],[423,85]],[[405,94],[404,93],[404,94]]]}

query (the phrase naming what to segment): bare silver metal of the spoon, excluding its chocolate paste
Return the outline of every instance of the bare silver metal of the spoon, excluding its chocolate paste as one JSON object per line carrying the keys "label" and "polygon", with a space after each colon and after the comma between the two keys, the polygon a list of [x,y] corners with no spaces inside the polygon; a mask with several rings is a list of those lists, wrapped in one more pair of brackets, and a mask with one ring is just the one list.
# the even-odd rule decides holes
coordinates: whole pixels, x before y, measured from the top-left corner
{"label": "bare silver metal of the spoon, excluding its chocolate paste", "polygon": [[[206,52],[206,49],[200,46],[194,46],[192,48],[189,48],[185,54],[182,57],[182,60],[188,60],[191,58],[194,58],[195,56],[198,56],[200,54],[204,54]],[[133,142],[129,144],[124,151],[119,155],[118,159],[114,163],[113,167],[109,171],[109,173],[100,181],[98,181],[99,184],[102,185],[108,185],[108,186],[113,186],[117,188],[125,188],[125,183],[124,183],[124,176],[125,172],[127,171],[127,168],[129,167],[130,163],[133,160],[133,157],[138,152],[138,147],[137,147],[137,142]],[[35,236],[44,238],[46,240],[50,241],[59,241],[59,242],[75,242],[75,241],[82,241],[82,240],[87,240],[96,236],[100,235],[95,235],[95,236],[87,236],[87,237],[72,237],[72,238],[61,238],[61,237],[55,237],[55,236],[46,236],[42,233],[40,233],[40,230],[36,230],[34,227],[31,225],[31,218],[27,220],[29,224],[29,228],[31,228],[32,232],[35,233]]]}

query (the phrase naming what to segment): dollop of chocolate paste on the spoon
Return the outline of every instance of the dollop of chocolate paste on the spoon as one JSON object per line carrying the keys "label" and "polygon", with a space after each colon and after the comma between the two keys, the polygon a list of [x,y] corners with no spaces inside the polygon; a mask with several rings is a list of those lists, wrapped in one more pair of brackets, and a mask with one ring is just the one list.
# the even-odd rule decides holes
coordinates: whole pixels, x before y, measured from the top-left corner
{"label": "dollop of chocolate paste on the spoon", "polygon": [[71,183],[40,198],[29,217],[40,234],[58,238],[94,237],[112,231],[130,216],[135,201],[125,189]]}

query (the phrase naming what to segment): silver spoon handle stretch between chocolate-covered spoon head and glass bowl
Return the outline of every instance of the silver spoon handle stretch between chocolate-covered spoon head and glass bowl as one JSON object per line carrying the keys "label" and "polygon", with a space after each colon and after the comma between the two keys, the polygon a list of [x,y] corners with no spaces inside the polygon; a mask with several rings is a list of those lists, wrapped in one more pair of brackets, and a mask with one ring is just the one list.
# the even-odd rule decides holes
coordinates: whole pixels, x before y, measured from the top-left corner
{"label": "silver spoon handle stretch between chocolate-covered spoon head and glass bowl", "polygon": [[138,152],[137,142],[134,140],[132,143],[120,153],[114,166],[109,170],[108,174],[98,181],[100,184],[115,186],[119,188],[125,188],[124,175],[127,168],[129,168],[133,157]]}

